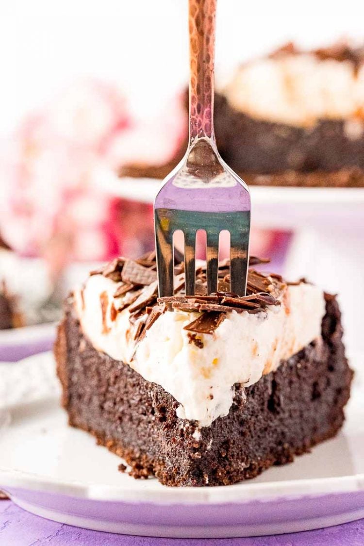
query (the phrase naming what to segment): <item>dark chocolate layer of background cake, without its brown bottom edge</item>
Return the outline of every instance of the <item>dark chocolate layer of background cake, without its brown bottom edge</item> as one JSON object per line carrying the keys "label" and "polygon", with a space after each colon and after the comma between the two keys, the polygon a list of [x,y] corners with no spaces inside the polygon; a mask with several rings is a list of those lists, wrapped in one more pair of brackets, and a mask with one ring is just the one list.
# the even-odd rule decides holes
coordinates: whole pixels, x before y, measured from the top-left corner
{"label": "dark chocolate layer of background cake, without its brown bottom edge", "polygon": [[364,170],[364,130],[353,138],[349,120],[318,120],[313,127],[296,127],[250,117],[232,108],[222,95],[215,101],[218,149],[238,173]]}

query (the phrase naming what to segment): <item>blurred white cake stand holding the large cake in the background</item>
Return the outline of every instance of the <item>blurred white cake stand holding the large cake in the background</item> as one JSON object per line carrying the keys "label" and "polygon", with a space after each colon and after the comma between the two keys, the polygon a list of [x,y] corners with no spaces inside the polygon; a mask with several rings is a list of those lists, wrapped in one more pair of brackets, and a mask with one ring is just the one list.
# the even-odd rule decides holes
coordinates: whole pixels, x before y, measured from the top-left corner
{"label": "blurred white cake stand holding the large cake in the background", "polygon": [[[98,171],[94,183],[111,195],[153,203],[160,180],[119,179]],[[306,277],[339,294],[345,341],[364,348],[364,188],[251,187],[255,227],[293,230],[284,274]]]}

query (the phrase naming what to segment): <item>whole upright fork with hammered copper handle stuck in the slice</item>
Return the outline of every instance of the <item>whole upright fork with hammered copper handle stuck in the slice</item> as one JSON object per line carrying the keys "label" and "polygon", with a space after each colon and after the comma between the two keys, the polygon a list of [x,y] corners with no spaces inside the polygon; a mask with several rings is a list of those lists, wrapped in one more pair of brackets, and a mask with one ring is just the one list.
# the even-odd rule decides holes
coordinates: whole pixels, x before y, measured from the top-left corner
{"label": "whole upright fork with hammered copper handle stuck in the slice", "polygon": [[217,291],[219,234],[230,232],[230,292],[246,294],[250,194],[220,157],[213,128],[216,0],[189,0],[189,145],[154,201],[159,296],[174,294],[173,234],[184,234],[186,294],[195,293],[196,232],[206,231],[207,294]]}

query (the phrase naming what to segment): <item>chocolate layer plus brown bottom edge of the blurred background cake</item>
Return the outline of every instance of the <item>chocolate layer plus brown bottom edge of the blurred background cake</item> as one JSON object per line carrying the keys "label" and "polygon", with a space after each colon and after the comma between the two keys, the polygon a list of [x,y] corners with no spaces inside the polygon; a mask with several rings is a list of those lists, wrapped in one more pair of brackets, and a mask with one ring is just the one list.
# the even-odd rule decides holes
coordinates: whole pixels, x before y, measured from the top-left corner
{"label": "chocolate layer plus brown bottom edge of the blurred background cake", "polygon": [[[257,120],[216,94],[214,124],[220,155],[250,186],[364,186],[364,132],[348,136],[348,121],[305,128]],[[119,174],[163,179],[182,157],[179,150],[166,165],[124,165]]]}

